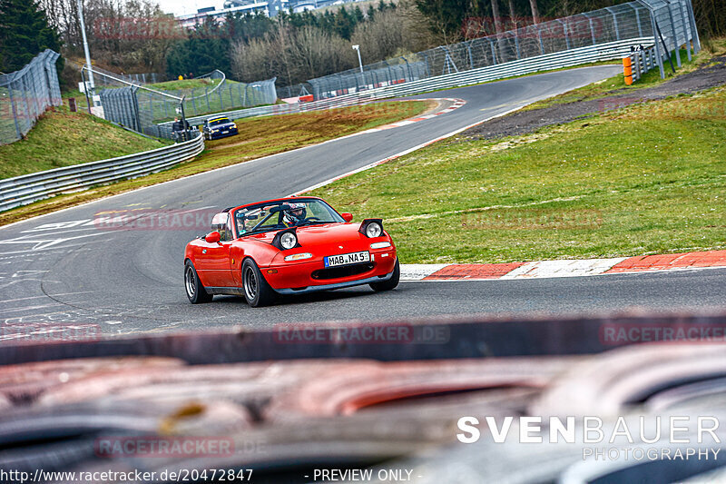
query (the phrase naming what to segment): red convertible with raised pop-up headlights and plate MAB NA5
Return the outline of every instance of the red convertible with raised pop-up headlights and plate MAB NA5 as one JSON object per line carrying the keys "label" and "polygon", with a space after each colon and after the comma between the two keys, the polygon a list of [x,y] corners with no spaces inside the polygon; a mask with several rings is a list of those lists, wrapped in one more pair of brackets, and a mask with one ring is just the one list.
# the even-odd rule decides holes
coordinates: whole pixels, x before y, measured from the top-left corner
{"label": "red convertible with raised pop-up headlights and plate MAB NA5", "polygon": [[214,215],[211,232],[187,244],[184,287],[192,304],[214,294],[244,296],[252,307],[278,294],[368,284],[398,285],[396,247],[380,219],[353,223],[316,197],[291,197]]}

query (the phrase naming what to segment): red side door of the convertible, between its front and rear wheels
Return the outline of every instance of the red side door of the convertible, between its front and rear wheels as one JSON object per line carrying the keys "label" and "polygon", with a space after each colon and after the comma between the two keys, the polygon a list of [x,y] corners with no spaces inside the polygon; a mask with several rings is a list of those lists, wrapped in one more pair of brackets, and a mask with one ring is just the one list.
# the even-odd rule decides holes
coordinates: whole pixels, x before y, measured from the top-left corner
{"label": "red side door of the convertible, between its front and rear wheels", "polygon": [[220,242],[201,242],[197,272],[201,272],[201,282],[207,287],[231,287],[234,284],[230,263],[232,232],[229,212],[214,215],[211,232],[215,231],[220,232]]}

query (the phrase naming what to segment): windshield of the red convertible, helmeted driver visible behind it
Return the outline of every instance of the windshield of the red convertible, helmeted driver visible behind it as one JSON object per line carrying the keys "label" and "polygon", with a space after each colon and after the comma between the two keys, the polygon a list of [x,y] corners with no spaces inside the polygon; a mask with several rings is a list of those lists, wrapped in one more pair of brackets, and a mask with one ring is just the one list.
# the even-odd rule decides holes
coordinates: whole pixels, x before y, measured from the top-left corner
{"label": "windshield of the red convertible, helmeted driver visible behind it", "polygon": [[251,205],[234,212],[234,221],[240,236],[302,225],[345,222],[328,203],[318,199],[282,200]]}

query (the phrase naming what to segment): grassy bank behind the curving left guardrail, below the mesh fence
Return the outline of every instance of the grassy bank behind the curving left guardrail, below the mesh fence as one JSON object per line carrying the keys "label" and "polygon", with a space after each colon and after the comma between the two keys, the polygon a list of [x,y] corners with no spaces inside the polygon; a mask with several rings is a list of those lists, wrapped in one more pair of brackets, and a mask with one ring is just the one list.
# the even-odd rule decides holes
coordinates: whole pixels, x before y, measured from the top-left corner
{"label": "grassy bank behind the curving left guardrail, below the mesh fence", "polygon": [[85,112],[71,113],[66,100],[64,103],[43,114],[25,139],[0,146],[0,178],[95,162],[166,144]]}

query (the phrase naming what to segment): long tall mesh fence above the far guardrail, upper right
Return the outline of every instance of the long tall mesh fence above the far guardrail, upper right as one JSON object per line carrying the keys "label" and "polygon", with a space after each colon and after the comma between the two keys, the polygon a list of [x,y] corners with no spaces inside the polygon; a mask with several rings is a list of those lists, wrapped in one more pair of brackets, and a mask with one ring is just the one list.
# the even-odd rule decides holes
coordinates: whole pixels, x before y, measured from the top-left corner
{"label": "long tall mesh fence above the far guardrail, upper right", "polygon": [[[279,88],[278,93],[293,97],[299,95],[301,86],[309,85],[316,100],[326,99],[588,45],[654,36],[658,29],[669,52],[691,40],[698,48],[690,0],[637,0],[368,64],[363,73],[350,69],[310,79],[307,84]],[[663,50],[661,54],[666,55]]]}

